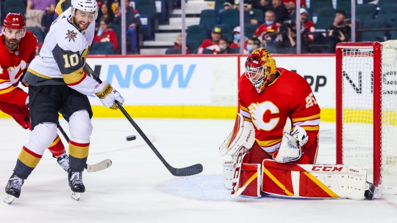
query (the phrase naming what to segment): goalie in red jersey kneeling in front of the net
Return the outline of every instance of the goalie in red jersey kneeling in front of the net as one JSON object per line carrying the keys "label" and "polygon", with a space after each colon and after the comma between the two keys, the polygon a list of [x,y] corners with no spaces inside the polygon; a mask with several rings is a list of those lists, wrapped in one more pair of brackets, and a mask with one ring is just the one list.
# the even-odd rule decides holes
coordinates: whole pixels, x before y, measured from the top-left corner
{"label": "goalie in red jersey kneeling in front of the net", "polygon": [[[276,67],[266,49],[254,50],[238,82],[240,111],[219,153],[224,185],[238,195],[372,199],[366,170],[314,165],[320,108],[299,74]],[[337,183],[338,182],[338,183]]]}

